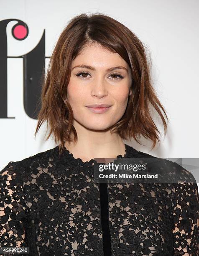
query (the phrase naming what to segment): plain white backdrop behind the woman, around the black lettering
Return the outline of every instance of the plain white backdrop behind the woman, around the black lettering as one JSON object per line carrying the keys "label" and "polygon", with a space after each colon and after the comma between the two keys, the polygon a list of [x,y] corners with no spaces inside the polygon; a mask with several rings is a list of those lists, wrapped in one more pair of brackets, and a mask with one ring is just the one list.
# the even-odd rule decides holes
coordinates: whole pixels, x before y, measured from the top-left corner
{"label": "plain white backdrop behind the woman, around the black lettering", "polygon": [[[150,150],[134,140],[125,141],[139,151],[162,158],[199,158],[199,1],[198,0],[0,0],[0,21],[16,18],[26,22],[29,35],[17,41],[7,26],[8,56],[31,51],[46,30],[45,56],[67,22],[80,13],[104,13],[128,26],[151,51],[153,86],[166,108],[168,132],[161,145]],[[46,59],[46,67],[48,59]],[[36,120],[23,107],[23,60],[8,59],[8,117],[0,119],[0,169],[56,146],[45,142],[46,126],[36,140]],[[161,128],[163,132],[163,129]],[[163,133],[162,133],[163,134]]]}

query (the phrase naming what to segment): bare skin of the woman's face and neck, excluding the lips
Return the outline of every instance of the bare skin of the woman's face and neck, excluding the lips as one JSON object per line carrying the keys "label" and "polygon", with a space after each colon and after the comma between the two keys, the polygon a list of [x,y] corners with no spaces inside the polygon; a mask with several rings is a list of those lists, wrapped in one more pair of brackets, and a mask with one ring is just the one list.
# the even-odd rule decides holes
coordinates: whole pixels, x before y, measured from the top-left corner
{"label": "bare skin of the woman's face and neck, excluding the lips", "polygon": [[[93,67],[76,67],[77,65]],[[107,69],[122,66],[112,71]],[[77,143],[64,146],[74,158],[89,161],[94,158],[116,158],[125,155],[125,145],[116,133],[110,133],[112,125],[125,113],[131,91],[130,67],[117,53],[112,53],[94,43],[84,47],[72,61],[67,97],[74,113]],[[77,76],[78,73],[82,73]],[[121,75],[123,78],[120,78]],[[93,113],[86,106],[91,104],[112,105],[105,113]]]}

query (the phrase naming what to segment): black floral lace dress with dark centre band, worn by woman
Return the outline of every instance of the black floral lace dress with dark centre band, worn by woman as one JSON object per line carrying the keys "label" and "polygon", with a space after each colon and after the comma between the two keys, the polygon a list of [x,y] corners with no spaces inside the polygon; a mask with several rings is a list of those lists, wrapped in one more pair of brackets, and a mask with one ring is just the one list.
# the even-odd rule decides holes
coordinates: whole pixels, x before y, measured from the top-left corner
{"label": "black floral lace dress with dark centre band, worn by woman", "polygon": [[[125,148],[125,158],[154,157]],[[56,146],[5,166],[0,246],[29,247],[33,256],[199,255],[199,194],[190,172],[172,162],[179,183],[98,184],[94,162],[66,148],[59,156]],[[180,182],[181,174],[193,182]]]}

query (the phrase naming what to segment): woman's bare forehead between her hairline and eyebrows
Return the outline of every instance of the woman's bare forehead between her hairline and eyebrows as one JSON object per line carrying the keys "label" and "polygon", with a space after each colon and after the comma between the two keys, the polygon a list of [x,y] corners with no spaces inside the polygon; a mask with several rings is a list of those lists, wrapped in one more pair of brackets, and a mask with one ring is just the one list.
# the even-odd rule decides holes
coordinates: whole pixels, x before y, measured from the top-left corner
{"label": "woman's bare forehead between her hairline and eyebrows", "polygon": [[79,55],[72,61],[72,66],[82,63],[99,68],[112,67],[112,65],[123,65],[128,68],[128,64],[119,54],[113,53],[97,43],[84,46]]}

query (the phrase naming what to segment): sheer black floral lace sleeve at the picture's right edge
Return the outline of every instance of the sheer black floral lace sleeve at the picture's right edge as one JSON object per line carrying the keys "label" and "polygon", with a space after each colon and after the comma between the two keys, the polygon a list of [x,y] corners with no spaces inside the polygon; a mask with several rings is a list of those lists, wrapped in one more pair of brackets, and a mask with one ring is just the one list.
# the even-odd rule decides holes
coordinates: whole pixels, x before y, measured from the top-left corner
{"label": "sheer black floral lace sleeve at the picture's right edge", "polygon": [[[180,166],[182,169],[182,166]],[[173,255],[199,255],[199,192],[194,176],[181,170],[175,184],[173,210]],[[189,179],[189,181],[188,181]]]}

